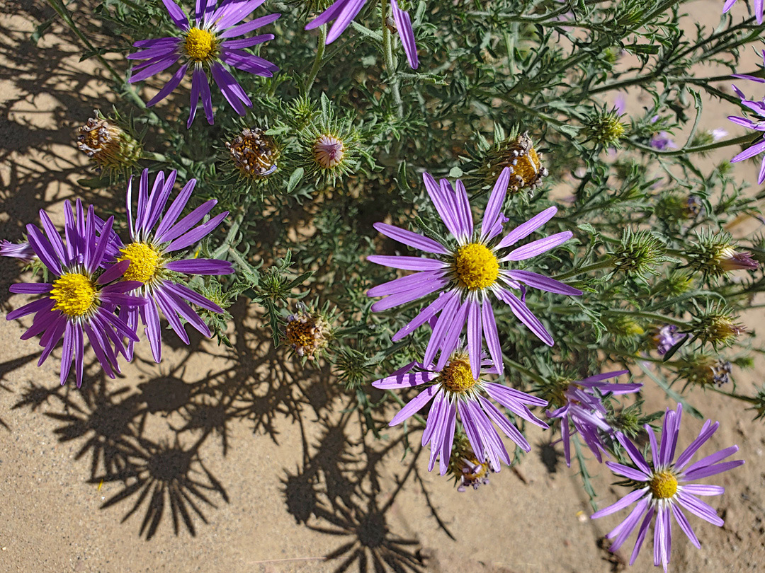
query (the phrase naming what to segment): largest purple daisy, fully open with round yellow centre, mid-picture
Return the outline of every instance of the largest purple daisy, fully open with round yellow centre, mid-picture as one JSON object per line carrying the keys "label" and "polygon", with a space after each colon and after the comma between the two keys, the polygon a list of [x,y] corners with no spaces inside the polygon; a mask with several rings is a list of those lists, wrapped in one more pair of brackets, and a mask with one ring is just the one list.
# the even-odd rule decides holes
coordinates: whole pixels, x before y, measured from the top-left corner
{"label": "largest purple daisy, fully open with round yellow centre, mid-picture", "polygon": [[[564,231],[524,244],[508,254],[500,254],[500,251],[513,246],[542,227],[558,211],[555,207],[545,209],[497,241],[496,238],[503,231],[503,222],[507,220],[500,213],[500,209],[507,193],[509,177],[510,169],[506,167],[496,181],[486,211],[483,213],[480,232],[478,232],[474,230],[467,191],[462,182],[457,180],[455,192],[447,180],[441,180],[439,186],[429,173],[423,174],[425,189],[428,190],[431,201],[456,244],[453,241],[448,241],[449,244],[441,244],[418,233],[385,223],[374,225],[383,235],[409,247],[419,248],[438,256],[438,258],[380,255],[367,257],[369,261],[376,264],[418,271],[369,289],[368,296],[386,296],[373,304],[372,309],[375,312],[411,303],[432,293],[440,293],[438,298],[422,309],[412,322],[393,335],[393,340],[397,341],[441,312],[441,319],[433,329],[424,360],[425,364],[430,364],[440,350],[441,358],[436,366],[438,370],[444,367],[451,352],[457,348],[457,340],[467,322],[467,347],[470,351],[470,365],[474,377],[478,377],[480,371],[483,336],[486,337],[493,363],[502,374],[504,369],[502,350],[500,337],[496,332],[490,293],[509,305],[513,314],[549,346],[553,344],[552,336],[524,303],[526,286],[533,286],[551,293],[581,295],[581,290],[558,280],[543,277],[529,270],[505,268],[504,263],[525,261],[571,238],[571,231]],[[513,294],[508,287],[521,291],[521,297]]]}

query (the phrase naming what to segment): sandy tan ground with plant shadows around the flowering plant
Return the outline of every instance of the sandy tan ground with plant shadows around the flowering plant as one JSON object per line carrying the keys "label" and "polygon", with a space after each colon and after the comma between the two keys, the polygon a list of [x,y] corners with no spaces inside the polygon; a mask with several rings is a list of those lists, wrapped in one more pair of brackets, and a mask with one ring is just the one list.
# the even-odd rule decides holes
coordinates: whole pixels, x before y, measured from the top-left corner
{"label": "sandy tan ground with plant shadows around the flowering plant", "polygon": [[[715,14],[720,4],[701,5]],[[60,215],[72,196],[109,201],[77,186],[86,159],[72,145],[73,126],[106,107],[107,89],[57,24],[37,47],[28,42],[50,18],[41,4],[3,10],[0,237],[15,240],[37,209]],[[732,111],[707,109],[719,121],[702,127]],[[8,303],[16,280],[15,261],[0,261],[2,317],[20,304]],[[160,366],[142,354],[117,380],[91,364],[83,391],[59,387],[55,354],[38,368],[37,345],[18,340],[24,325],[2,321],[0,571],[624,570],[631,545],[610,555],[601,541],[617,517],[588,519],[580,478],[549,433],[529,429],[534,448],[517,471],[458,494],[428,474],[418,448],[402,460],[399,433],[361,435],[327,371],[299,372],[246,309],[234,313],[233,351],[199,339],[165,345]],[[745,322],[756,329],[763,317]],[[741,393],[761,384],[762,367],[758,358],[754,372],[734,373]],[[672,405],[652,387],[646,400],[648,410]],[[702,549],[675,528],[672,570],[762,571],[763,423],[718,395],[690,400],[722,422],[708,449],[737,443],[747,465],[714,481],[727,488],[711,501],[725,526],[692,521]],[[681,441],[699,426],[689,419]],[[601,503],[624,493],[590,468]],[[650,553],[630,570],[655,571]]]}

